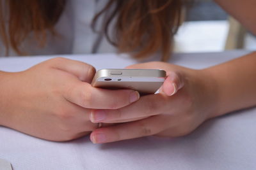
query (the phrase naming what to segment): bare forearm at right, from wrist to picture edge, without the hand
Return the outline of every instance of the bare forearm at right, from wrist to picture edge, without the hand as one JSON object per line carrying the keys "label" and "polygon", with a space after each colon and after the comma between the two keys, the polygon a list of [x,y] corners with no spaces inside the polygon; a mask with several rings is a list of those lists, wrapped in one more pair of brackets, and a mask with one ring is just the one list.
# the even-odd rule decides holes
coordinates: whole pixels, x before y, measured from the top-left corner
{"label": "bare forearm at right, from wrist to picture edge, without the hand", "polygon": [[256,105],[256,53],[204,69],[214,79],[216,112],[212,117]]}

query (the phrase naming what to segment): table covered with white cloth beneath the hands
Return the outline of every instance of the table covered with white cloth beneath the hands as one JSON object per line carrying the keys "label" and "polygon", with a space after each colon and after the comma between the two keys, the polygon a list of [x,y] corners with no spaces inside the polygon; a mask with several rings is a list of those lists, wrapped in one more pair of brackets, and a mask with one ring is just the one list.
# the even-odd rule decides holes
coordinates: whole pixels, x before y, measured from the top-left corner
{"label": "table covered with white cloth beneath the hands", "polygon": [[[201,69],[249,52],[177,54],[170,62]],[[0,59],[0,70],[22,71],[47,57]],[[136,63],[126,55],[65,55],[97,69]],[[51,142],[0,127],[0,158],[19,169],[256,169],[256,108],[208,120],[181,138],[146,137],[94,145],[88,136]]]}

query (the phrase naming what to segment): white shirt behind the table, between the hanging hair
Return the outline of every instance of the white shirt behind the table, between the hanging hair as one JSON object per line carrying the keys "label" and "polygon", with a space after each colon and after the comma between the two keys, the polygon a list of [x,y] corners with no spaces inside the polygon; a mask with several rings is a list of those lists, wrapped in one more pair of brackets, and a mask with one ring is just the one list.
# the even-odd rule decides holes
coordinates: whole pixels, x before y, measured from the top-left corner
{"label": "white shirt behind the table, between the hanging hair", "polygon": [[[67,0],[65,9],[55,25],[60,36],[47,35],[47,43],[42,48],[38,46],[33,36],[22,43],[22,52],[28,55],[58,55],[79,53],[108,53],[116,52],[102,34],[91,29],[91,22],[108,0]],[[99,29],[99,28],[97,28]],[[1,40],[1,39],[0,39]],[[0,56],[5,55],[3,41],[0,41]],[[10,48],[9,56],[17,53]]]}

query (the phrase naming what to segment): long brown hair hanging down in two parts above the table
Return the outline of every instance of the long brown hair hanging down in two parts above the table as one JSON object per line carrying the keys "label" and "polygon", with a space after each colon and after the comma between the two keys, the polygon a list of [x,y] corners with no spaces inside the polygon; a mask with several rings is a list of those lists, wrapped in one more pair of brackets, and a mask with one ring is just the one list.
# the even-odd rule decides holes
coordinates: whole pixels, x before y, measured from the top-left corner
{"label": "long brown hair hanging down in two parts above the table", "polygon": [[[55,34],[54,25],[65,6],[65,0],[9,0],[4,3],[0,3],[1,38],[6,52],[12,47],[20,55],[19,46],[31,32],[40,45],[45,44],[47,30]],[[134,57],[140,58],[160,51],[166,60],[170,56],[173,35],[182,21],[183,5],[182,0],[109,0],[93,19],[92,27],[95,29],[97,20],[104,14],[104,34],[119,52],[134,52]],[[3,7],[8,7],[8,18],[4,18]],[[112,22],[113,36],[109,36]]]}

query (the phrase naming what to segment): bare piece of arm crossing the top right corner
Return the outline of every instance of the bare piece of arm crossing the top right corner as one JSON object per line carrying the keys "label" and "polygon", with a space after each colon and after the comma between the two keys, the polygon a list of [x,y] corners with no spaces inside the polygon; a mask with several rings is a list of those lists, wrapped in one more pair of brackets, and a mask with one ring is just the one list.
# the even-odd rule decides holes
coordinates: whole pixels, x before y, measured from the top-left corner
{"label": "bare piece of arm crossing the top right corner", "polygon": [[215,0],[230,15],[256,35],[255,0]]}

